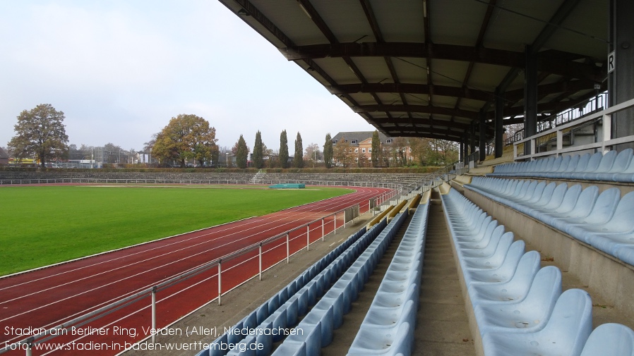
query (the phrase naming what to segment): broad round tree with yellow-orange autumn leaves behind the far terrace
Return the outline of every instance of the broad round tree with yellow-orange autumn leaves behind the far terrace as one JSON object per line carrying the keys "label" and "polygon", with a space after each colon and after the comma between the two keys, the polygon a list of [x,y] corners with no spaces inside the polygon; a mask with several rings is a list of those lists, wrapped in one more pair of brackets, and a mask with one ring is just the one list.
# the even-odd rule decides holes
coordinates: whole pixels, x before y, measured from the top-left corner
{"label": "broad round tree with yellow-orange autumn leaves behind the far terrace", "polygon": [[209,121],[193,114],[180,114],[157,134],[152,155],[179,161],[181,167],[189,159],[195,159],[203,166],[212,159],[216,142],[216,129],[210,127]]}

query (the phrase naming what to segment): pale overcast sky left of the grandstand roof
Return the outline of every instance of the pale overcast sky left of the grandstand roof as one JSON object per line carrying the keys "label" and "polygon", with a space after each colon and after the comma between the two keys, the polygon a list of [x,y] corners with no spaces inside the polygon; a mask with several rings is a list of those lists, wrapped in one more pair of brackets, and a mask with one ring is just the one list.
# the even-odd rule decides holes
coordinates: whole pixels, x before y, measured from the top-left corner
{"label": "pale overcast sky left of the grandstand roof", "polygon": [[227,147],[374,130],[217,0],[0,1],[0,97],[3,147],[38,104],[64,111],[78,147],[142,149],[180,113]]}

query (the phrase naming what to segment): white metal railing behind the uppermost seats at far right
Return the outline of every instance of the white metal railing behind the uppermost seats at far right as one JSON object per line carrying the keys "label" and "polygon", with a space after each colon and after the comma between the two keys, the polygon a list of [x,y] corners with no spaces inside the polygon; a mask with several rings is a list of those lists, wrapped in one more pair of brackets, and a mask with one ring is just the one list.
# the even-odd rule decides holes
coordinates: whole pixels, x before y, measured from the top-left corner
{"label": "white metal railing behind the uppermost seats at far right", "polygon": [[[627,102],[622,102],[621,104],[612,106],[609,109],[605,109],[597,113],[593,113],[591,115],[586,116],[585,118],[580,118],[576,121],[572,121],[570,123],[556,126],[555,128],[551,128],[550,130],[542,131],[541,133],[538,133],[537,135],[532,135],[531,137],[526,137],[523,140],[513,142],[513,159],[515,160],[534,159],[541,156],[552,156],[552,155],[559,156],[560,154],[564,154],[567,152],[583,151],[585,149],[600,149],[602,151],[605,151],[606,147],[610,147],[613,145],[620,145],[622,143],[627,143],[627,142],[634,142],[634,135],[630,135],[626,137],[611,138],[612,114],[618,111],[625,110],[625,109],[630,109],[632,107],[634,107],[634,99],[630,99]],[[584,123],[587,123],[593,120],[597,120],[599,118],[603,120],[603,135],[602,137],[599,137],[599,140],[597,142],[590,143],[587,145],[578,145],[578,146],[563,148],[563,131],[564,130],[568,128],[573,128],[574,126],[577,126],[577,125],[582,125]],[[553,133],[556,133],[557,149],[554,151],[535,153],[537,140],[540,137],[551,135]],[[530,154],[518,156],[518,145],[524,142],[530,142],[531,152]]]}

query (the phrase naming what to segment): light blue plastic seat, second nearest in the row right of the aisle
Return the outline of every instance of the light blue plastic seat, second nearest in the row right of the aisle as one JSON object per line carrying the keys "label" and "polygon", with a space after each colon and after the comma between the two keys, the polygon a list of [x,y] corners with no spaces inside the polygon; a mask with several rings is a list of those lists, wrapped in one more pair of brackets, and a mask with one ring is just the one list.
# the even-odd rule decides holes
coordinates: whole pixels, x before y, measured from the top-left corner
{"label": "light blue plastic seat, second nearest in the row right of the aisle", "polygon": [[591,331],[590,295],[569,289],[561,293],[544,329],[532,333],[487,332],[482,345],[487,356],[580,355]]}

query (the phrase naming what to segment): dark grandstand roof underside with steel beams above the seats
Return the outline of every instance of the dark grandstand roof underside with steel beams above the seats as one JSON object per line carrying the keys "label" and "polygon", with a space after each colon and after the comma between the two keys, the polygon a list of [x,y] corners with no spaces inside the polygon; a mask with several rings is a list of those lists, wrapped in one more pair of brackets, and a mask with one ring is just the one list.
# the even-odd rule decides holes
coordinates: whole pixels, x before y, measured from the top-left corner
{"label": "dark grandstand roof underside with steel beams above the seats", "polygon": [[460,141],[496,93],[522,122],[531,53],[538,115],[606,90],[608,0],[220,1],[390,137]]}

